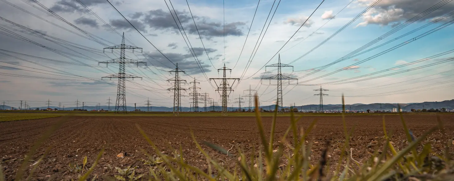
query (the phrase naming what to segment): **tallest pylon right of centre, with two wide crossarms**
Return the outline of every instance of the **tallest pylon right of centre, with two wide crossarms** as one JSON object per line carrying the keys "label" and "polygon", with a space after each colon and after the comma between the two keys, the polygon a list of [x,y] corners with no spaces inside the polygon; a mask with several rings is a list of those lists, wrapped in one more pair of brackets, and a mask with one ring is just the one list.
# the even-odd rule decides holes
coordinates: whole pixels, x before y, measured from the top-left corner
{"label": "tallest pylon right of centre, with two wide crossarms", "polygon": [[282,113],[282,108],[283,108],[283,100],[282,100],[282,80],[296,80],[296,84],[298,84],[298,79],[297,78],[291,78],[285,75],[282,75],[281,73],[281,67],[291,67],[293,71],[293,66],[287,65],[287,64],[281,64],[281,54],[279,54],[279,59],[277,64],[271,64],[271,65],[266,65],[265,66],[265,71],[266,67],[277,67],[277,75],[268,77],[268,78],[262,78],[263,79],[269,79],[270,80],[270,85],[271,85],[271,80],[276,79],[277,80],[277,97],[276,97],[276,104],[277,104],[277,111]]}

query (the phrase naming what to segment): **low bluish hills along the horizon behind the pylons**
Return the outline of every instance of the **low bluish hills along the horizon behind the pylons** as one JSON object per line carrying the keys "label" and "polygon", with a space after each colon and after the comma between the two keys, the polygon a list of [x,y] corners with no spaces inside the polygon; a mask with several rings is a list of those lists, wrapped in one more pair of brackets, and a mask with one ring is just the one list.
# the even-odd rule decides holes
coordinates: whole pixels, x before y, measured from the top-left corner
{"label": "low bluish hills along the horizon behind the pylons", "polygon": [[[380,109],[381,105],[381,109]],[[397,108],[398,105],[400,105],[400,108],[405,111],[410,111],[411,109],[441,109],[441,108],[446,108],[448,110],[454,109],[454,99],[452,100],[446,100],[446,101],[441,101],[441,102],[424,102],[424,103],[372,103],[372,104],[361,104],[361,103],[355,103],[355,104],[346,104],[345,109],[346,110],[352,110],[352,111],[365,111],[367,109],[370,109],[372,111],[374,110],[392,110],[393,108]],[[269,109],[274,109],[276,105],[269,105],[269,106],[261,106],[260,108],[263,108],[265,110]],[[17,107],[15,107],[17,108]],[[47,107],[39,107],[39,109],[46,109]],[[49,108],[58,108],[54,106],[50,106]],[[70,108],[64,108],[65,110],[74,110],[76,107],[70,107]],[[79,107],[81,109],[82,107]],[[108,106],[100,106],[101,109],[107,110]],[[113,110],[115,106],[110,106],[110,109]],[[147,111],[147,107],[136,107],[137,109],[140,109],[141,111]],[[216,110],[220,111],[221,107],[216,106]],[[288,106],[284,107],[288,108]],[[319,108],[318,104],[311,104],[311,105],[304,105],[304,106],[296,106],[298,110],[317,110]],[[10,106],[5,105],[5,109],[11,109]],[[30,109],[36,109],[35,108],[30,108]],[[96,106],[84,106],[84,109],[86,110],[95,110]],[[134,107],[132,106],[127,106],[126,109],[128,111],[134,111]],[[210,108],[208,108],[210,109]],[[229,107],[229,110],[232,108]],[[233,109],[238,109],[238,107],[235,107]],[[242,109],[247,109],[245,107],[242,107]],[[324,104],[323,105],[324,110],[342,110],[342,104]],[[182,107],[181,111],[182,112],[188,112],[190,111],[191,108],[188,107]],[[204,108],[200,107],[199,110],[203,111]],[[172,112],[173,108],[168,108],[168,107],[155,107],[152,106],[150,111],[157,111],[157,112]]]}

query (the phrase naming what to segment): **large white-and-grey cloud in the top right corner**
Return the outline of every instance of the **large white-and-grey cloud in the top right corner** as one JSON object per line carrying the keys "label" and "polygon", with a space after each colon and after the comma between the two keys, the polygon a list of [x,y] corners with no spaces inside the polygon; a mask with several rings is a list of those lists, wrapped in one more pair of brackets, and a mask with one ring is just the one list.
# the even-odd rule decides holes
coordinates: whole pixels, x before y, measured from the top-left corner
{"label": "large white-and-grey cloud in the top right corner", "polygon": [[[368,6],[375,0],[358,0],[359,5]],[[380,26],[397,26],[400,22],[409,20],[419,13],[435,5],[433,0],[385,0],[381,1],[374,8],[363,15],[363,22],[356,25],[366,26],[368,24],[379,24]],[[448,3],[432,13],[425,15],[418,21],[431,20],[435,17],[448,14],[454,9],[454,4]],[[452,18],[452,17],[451,17]]]}

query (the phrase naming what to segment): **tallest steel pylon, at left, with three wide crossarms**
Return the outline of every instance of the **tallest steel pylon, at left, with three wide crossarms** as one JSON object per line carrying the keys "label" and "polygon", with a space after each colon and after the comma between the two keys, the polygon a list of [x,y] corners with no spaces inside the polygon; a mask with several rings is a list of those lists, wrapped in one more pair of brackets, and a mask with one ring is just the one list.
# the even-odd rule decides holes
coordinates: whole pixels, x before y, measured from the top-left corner
{"label": "tallest steel pylon, at left, with three wide crossarms", "polygon": [[140,79],[142,79],[142,78],[137,77],[135,75],[129,75],[129,74],[124,73],[125,64],[136,64],[137,66],[139,66],[139,64],[147,65],[147,63],[125,58],[125,50],[132,49],[133,53],[134,53],[134,49],[140,49],[140,52],[142,52],[143,50],[142,50],[142,48],[124,44],[124,32],[123,32],[123,36],[121,39],[121,44],[104,48],[103,53],[104,53],[105,49],[111,49],[112,53],[114,53],[114,49],[120,49],[120,58],[111,59],[111,60],[104,61],[104,62],[99,62],[98,64],[106,64],[106,65],[118,64],[118,73],[112,74],[112,75],[109,75],[106,77],[102,77],[101,79],[109,78],[109,80],[112,80],[112,78],[118,78],[117,101],[115,102],[115,113],[127,113],[126,112],[126,88],[125,88],[126,78],[132,78],[133,80],[134,80],[134,78],[140,78]]}

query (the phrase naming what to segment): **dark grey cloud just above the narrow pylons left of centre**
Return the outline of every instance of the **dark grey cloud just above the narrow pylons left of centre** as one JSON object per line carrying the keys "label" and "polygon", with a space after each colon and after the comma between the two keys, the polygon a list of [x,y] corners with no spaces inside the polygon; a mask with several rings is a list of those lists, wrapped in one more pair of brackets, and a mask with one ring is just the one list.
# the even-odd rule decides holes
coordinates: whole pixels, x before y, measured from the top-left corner
{"label": "dark grey cloud just above the narrow pylons left of centre", "polygon": [[[196,48],[194,48],[194,49],[196,49]],[[200,48],[197,47],[197,49],[200,49]],[[208,49],[207,49],[207,51],[208,51]],[[204,54],[205,50],[203,50],[202,53]],[[148,54],[150,56],[152,56],[153,58],[157,59],[159,62],[167,65],[168,67],[175,68],[175,65],[173,65],[173,64],[178,64],[178,68],[181,68],[183,71],[185,71],[188,74],[202,73],[201,69],[199,68],[199,65],[197,65],[196,60],[194,60],[194,57],[192,57],[192,54],[190,54],[190,53],[188,53],[188,54],[164,53],[166,55],[166,57],[173,62],[173,64],[171,62],[169,62],[168,59],[166,59],[159,52],[148,52]],[[200,63],[202,64],[203,70],[206,73],[211,72],[210,65],[205,64],[205,62],[201,59],[202,58],[199,58]],[[151,60],[151,61],[153,61],[153,60]],[[155,65],[157,67],[168,68],[167,66],[164,66],[163,64],[158,63]]]}

